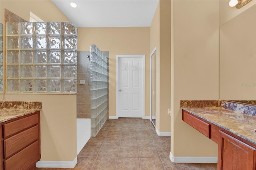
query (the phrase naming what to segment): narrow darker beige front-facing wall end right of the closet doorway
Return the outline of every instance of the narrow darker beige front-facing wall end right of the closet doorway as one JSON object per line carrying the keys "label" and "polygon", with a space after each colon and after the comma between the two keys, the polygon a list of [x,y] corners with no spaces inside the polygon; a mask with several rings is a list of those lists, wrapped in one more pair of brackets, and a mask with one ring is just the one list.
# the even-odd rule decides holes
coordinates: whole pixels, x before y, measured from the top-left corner
{"label": "narrow darker beige front-facing wall end right of the closet doorway", "polygon": [[[171,107],[171,1],[160,1],[160,106],[159,128],[160,132],[170,132]],[[158,85],[157,85],[158,86]]]}

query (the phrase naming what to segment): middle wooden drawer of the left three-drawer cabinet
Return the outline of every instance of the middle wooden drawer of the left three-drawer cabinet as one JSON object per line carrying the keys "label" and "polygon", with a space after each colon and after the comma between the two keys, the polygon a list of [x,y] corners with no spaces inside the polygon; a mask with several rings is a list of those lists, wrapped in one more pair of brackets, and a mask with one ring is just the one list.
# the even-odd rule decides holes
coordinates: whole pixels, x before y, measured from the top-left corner
{"label": "middle wooden drawer of the left three-drawer cabinet", "polygon": [[38,140],[38,125],[4,140],[4,158],[8,158],[36,140]]}

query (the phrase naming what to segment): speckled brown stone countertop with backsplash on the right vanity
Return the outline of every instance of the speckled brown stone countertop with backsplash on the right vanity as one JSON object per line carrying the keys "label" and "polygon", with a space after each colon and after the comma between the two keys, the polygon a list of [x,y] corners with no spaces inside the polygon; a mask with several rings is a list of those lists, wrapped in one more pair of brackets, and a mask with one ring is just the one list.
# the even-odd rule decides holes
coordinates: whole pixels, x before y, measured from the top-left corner
{"label": "speckled brown stone countertop with backsplash on the right vanity", "polygon": [[[194,105],[189,103],[194,103]],[[229,101],[212,101],[212,105],[207,103],[207,107],[204,107],[202,103],[207,103],[207,101],[181,101],[181,108],[256,144],[254,106]]]}

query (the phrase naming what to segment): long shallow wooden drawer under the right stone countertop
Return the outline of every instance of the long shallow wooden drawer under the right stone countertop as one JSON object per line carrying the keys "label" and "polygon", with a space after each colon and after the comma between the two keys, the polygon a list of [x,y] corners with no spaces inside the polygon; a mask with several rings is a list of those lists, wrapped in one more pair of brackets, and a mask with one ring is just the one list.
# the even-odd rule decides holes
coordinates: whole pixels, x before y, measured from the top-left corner
{"label": "long shallow wooden drawer under the right stone countertop", "polygon": [[186,111],[182,111],[182,120],[199,132],[201,132],[202,134],[204,134],[205,136],[207,136],[208,138],[210,138],[210,125],[208,123],[197,119]]}

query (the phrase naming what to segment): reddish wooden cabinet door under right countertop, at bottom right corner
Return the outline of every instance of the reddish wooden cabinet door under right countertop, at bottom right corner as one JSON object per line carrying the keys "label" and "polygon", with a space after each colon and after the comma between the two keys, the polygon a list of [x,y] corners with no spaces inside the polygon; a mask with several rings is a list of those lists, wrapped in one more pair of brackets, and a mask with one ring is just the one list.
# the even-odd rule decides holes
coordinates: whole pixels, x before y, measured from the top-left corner
{"label": "reddish wooden cabinet door under right countertop, at bottom right corner", "polygon": [[255,170],[256,148],[220,131],[218,170]]}

